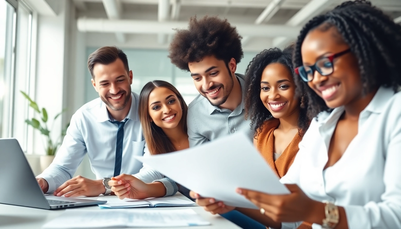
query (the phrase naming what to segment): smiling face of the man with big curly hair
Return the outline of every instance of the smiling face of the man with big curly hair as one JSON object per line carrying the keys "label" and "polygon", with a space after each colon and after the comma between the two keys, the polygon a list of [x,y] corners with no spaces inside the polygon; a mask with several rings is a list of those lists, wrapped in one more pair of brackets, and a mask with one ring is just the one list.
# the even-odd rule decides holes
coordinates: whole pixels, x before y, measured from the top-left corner
{"label": "smiling face of the man with big curly hair", "polygon": [[203,57],[199,62],[188,63],[195,87],[214,106],[225,103],[234,87],[235,59],[227,65],[214,56]]}

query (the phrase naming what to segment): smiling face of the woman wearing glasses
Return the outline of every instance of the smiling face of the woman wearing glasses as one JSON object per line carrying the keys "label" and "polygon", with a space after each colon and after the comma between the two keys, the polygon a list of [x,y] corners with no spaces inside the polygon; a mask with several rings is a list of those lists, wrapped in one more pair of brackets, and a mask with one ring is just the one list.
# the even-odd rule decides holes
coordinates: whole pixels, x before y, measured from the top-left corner
{"label": "smiling face of the woman wearing glasses", "polygon": [[[314,65],[321,57],[340,53],[350,47],[342,40],[336,27],[326,31],[319,28],[306,35],[301,46],[304,66]],[[330,63],[327,63],[330,64]],[[308,82],[330,108],[340,107],[356,101],[362,96],[358,61],[353,53],[346,53],[333,60],[333,73],[322,76],[314,72],[313,80]]]}

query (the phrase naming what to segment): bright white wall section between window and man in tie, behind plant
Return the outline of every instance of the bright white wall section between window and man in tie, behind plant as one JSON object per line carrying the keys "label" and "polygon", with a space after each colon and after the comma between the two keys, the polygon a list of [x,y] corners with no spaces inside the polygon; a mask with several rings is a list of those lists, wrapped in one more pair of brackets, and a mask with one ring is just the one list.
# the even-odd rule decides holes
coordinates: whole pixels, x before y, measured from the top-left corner
{"label": "bright white wall section between window and man in tie, behind plant", "polygon": [[[70,20],[71,2],[59,1],[57,16],[38,16],[36,85],[35,100],[39,106],[46,107],[50,124],[57,113],[66,107],[65,77],[68,75],[69,35],[67,26]],[[65,117],[65,116],[64,116]],[[57,139],[66,122],[58,119],[54,124],[51,136]],[[44,139],[40,132],[34,132],[33,154],[43,154]],[[28,147],[29,148],[29,147]]]}

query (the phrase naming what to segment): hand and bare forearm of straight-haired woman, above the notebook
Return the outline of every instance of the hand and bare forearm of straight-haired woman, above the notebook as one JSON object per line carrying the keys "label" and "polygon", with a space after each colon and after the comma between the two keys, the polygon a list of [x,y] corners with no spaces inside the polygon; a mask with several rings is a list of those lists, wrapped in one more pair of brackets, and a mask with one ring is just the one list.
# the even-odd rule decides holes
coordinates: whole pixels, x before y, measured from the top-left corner
{"label": "hand and bare forearm of straight-haired woman, above the notebook", "polygon": [[162,182],[146,184],[135,176],[128,174],[120,174],[112,177],[109,185],[111,186],[111,191],[119,199],[142,200],[150,197],[164,197],[166,195],[166,187],[164,187]]}

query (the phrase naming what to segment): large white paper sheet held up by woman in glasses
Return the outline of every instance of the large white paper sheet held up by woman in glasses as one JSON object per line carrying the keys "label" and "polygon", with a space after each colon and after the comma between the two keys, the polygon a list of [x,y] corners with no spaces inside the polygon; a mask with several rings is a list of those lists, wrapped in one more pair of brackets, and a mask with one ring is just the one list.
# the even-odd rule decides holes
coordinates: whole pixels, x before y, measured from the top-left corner
{"label": "large white paper sheet held up by woman in glasses", "polygon": [[243,133],[178,152],[135,158],[199,195],[230,206],[257,209],[236,188],[290,193]]}

